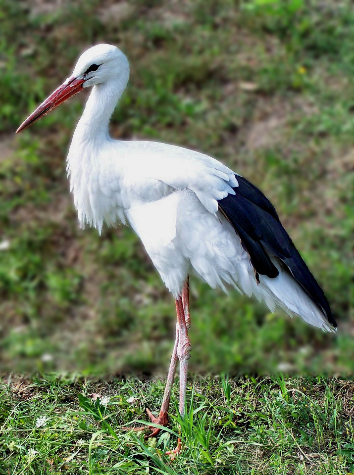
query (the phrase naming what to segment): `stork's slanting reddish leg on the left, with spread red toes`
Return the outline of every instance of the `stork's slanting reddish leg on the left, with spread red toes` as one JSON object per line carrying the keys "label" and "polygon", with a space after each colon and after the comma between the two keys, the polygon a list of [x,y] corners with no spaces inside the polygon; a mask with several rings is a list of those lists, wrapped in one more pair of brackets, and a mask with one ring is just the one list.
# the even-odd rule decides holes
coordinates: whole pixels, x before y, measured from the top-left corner
{"label": "stork's slanting reddish leg on the left, with spread red toes", "polygon": [[[181,310],[181,305],[182,305],[182,310]],[[175,337],[175,343],[174,343],[174,347],[172,351],[170,367],[168,370],[165,391],[163,394],[162,405],[161,405],[161,409],[160,409],[158,417],[155,417],[150,411],[150,409],[148,408],[146,409],[146,412],[148,416],[150,417],[151,422],[153,424],[158,424],[159,426],[167,426],[168,424],[168,408],[170,405],[171,391],[172,391],[173,381],[174,381],[175,372],[176,372],[176,364],[177,364],[177,360],[179,359],[178,353],[181,353],[178,350],[179,348],[179,321],[180,321],[179,314],[181,312],[183,313],[183,320],[185,322],[185,327],[188,331],[191,326],[191,317],[190,317],[190,312],[189,312],[189,277],[187,278],[183,286],[182,294],[179,296],[178,299],[176,299],[176,313],[177,313],[176,337]],[[180,369],[181,369],[181,363],[180,363]],[[186,375],[187,375],[187,369],[186,369]],[[184,408],[184,404],[185,403],[183,402],[183,408]],[[180,408],[181,408],[181,403],[180,403]],[[154,437],[161,430],[160,428],[153,427],[153,426],[123,427],[123,429],[138,431],[138,430],[145,430],[147,427],[149,427],[152,430],[152,432],[150,434],[147,434],[145,438]],[[178,440],[180,444],[180,439]]]}

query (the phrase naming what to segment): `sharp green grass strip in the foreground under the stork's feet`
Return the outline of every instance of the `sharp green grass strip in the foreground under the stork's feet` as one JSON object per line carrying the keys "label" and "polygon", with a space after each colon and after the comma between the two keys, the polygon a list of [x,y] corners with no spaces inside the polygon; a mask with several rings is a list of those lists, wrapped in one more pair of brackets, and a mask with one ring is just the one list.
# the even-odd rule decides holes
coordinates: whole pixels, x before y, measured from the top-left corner
{"label": "sharp green grass strip in the foreground under the stork's feet", "polygon": [[[1,391],[3,474],[354,473],[349,381],[196,380],[186,418],[172,404],[170,428],[148,440],[122,426],[141,425],[147,406],[158,410],[162,381],[9,377]],[[107,406],[92,393],[108,396]],[[179,427],[184,449],[171,463],[165,452]]]}

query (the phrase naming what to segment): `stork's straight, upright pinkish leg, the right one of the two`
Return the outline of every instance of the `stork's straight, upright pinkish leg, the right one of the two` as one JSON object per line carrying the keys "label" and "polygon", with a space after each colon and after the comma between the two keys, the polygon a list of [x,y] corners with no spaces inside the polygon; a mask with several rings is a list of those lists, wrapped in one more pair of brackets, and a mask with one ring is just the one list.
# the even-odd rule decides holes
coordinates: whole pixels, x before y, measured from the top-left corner
{"label": "stork's straight, upright pinkish leg, the right one of the two", "polygon": [[[186,404],[188,360],[191,356],[191,343],[188,336],[188,330],[190,327],[190,318],[187,318],[187,312],[185,313],[185,310],[184,310],[186,308],[187,302],[189,302],[188,282],[186,283],[185,288],[187,289],[186,295],[185,295],[185,305],[183,305],[183,294],[181,298],[176,299],[177,324],[178,324],[177,356],[179,359],[179,367],[180,367],[179,412],[182,418],[184,417],[185,404]],[[188,311],[188,316],[189,316],[189,311]],[[174,460],[176,456],[181,452],[181,450],[182,450],[182,442],[181,442],[181,439],[178,438],[176,448],[166,452],[166,455],[168,455],[171,460]]]}

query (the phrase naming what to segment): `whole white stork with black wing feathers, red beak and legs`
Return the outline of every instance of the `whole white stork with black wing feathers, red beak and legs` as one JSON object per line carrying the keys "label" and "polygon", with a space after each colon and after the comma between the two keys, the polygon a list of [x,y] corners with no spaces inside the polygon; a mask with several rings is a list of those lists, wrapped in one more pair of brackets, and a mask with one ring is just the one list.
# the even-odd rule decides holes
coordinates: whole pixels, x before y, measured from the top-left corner
{"label": "whole white stork with black wing feathers, red beak and legs", "polygon": [[[70,190],[82,228],[88,224],[101,233],[103,222],[133,228],[175,298],[176,339],[161,410],[154,417],[147,409],[153,423],[165,426],[177,360],[184,416],[191,273],[212,288],[233,285],[272,312],[281,308],[322,330],[335,331],[336,322],[274,207],[255,186],[203,153],[109,137],[109,119],[128,79],[120,49],[91,47],[16,133],[93,86],[67,156]],[[150,435],[158,430],[152,427]],[[179,439],[169,455],[180,450]]]}

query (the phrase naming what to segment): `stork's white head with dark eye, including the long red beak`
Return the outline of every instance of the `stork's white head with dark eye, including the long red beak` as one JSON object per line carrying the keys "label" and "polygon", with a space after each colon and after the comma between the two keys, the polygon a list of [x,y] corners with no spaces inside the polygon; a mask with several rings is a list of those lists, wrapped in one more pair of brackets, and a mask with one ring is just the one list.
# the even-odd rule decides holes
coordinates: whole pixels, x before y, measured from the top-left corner
{"label": "stork's white head with dark eye, including the long red beak", "polygon": [[16,134],[27,129],[38,119],[85,88],[119,79],[126,83],[128,78],[129,63],[120,49],[113,45],[93,46],[82,53],[71,76],[27,117],[17,129]]}

